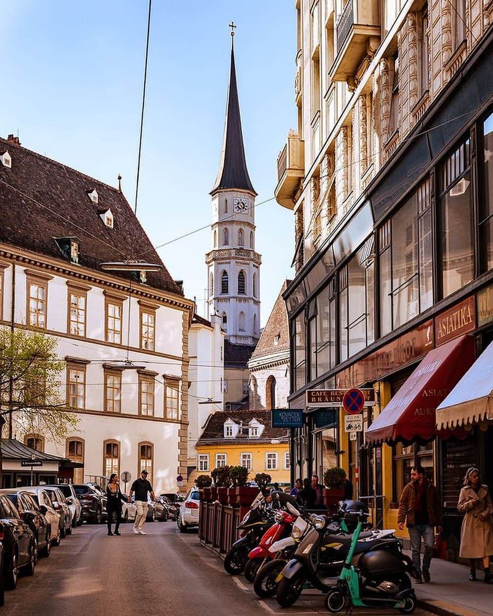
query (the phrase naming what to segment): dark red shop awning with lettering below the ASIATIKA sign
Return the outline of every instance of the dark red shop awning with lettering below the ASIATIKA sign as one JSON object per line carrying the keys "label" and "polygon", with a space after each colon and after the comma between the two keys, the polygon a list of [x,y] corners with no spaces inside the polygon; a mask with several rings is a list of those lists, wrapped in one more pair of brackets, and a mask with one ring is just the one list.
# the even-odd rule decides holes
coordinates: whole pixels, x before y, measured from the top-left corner
{"label": "dark red shop awning with lettering below the ASIATIKA sign", "polygon": [[432,349],[366,432],[367,444],[429,440],[436,434],[435,410],[475,357],[472,336]]}

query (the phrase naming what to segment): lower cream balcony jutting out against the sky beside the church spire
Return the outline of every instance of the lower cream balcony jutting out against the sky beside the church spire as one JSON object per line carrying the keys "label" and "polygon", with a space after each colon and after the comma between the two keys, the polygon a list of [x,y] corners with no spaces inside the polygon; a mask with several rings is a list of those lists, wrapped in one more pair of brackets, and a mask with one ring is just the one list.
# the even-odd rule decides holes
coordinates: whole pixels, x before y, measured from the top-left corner
{"label": "lower cream balcony jutting out against the sky beside the church spire", "polygon": [[274,195],[277,203],[293,209],[295,195],[304,177],[304,141],[298,132],[290,131],[287,144],[277,157],[277,186]]}

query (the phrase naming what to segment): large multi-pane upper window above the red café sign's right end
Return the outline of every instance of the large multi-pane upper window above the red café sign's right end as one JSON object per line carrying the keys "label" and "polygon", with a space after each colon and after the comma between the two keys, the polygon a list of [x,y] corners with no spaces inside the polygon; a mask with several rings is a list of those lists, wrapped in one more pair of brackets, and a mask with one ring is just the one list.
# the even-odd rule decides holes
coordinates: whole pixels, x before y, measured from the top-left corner
{"label": "large multi-pane upper window above the red caf\u00e9 sign's right end", "polygon": [[380,227],[380,333],[407,323],[433,304],[430,180]]}

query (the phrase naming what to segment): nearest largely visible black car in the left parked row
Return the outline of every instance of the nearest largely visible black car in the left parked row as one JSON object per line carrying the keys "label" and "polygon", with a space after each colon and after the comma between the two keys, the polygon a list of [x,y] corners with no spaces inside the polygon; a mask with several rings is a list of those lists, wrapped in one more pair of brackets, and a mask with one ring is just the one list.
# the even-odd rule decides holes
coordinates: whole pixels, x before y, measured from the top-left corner
{"label": "nearest largely visible black car in the left parked row", "polygon": [[6,495],[0,494],[0,522],[4,534],[4,579],[7,590],[17,586],[19,570],[27,575],[35,572],[38,560],[38,545],[30,527],[24,522]]}

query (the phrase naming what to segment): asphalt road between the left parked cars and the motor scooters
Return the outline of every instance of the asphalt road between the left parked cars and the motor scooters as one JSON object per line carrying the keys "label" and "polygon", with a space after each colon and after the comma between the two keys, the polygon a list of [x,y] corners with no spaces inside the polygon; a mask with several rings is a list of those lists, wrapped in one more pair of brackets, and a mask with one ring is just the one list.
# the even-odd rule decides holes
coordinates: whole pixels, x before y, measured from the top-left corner
{"label": "asphalt road between the left parked cars and the motor scooters", "polygon": [[[17,590],[6,593],[0,616],[328,614],[314,591],[287,610],[275,599],[261,601],[243,577],[227,575],[196,532],[180,534],[174,522],[147,523],[145,537],[134,535],[131,524],[121,530],[121,537],[108,537],[103,525],[74,529],[39,559],[33,577],[20,577]],[[377,610],[353,614],[377,616]]]}

